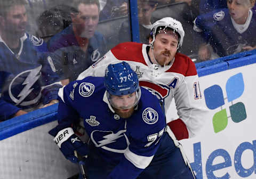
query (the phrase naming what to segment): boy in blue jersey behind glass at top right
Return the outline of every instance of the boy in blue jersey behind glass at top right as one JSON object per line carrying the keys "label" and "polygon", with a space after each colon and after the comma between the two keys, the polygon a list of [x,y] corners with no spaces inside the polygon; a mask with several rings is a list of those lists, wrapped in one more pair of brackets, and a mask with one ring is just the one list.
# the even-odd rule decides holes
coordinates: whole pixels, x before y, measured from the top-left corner
{"label": "boy in blue jersey behind glass at top right", "polygon": [[228,0],[228,9],[218,9],[196,18],[194,30],[200,32],[205,40],[198,51],[201,60],[211,59],[213,54],[209,54],[209,47],[218,56],[256,48],[256,19],[252,18],[256,13],[251,10],[254,4],[254,0]]}

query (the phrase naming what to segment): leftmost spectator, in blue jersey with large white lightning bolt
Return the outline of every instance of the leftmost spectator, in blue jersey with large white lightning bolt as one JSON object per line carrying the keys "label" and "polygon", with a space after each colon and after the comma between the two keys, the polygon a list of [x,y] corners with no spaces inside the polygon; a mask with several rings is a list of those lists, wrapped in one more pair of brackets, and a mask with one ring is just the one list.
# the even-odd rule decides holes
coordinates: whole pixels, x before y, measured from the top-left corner
{"label": "leftmost spectator, in blue jersey with large white lightning bolt", "polygon": [[58,102],[61,85],[46,44],[25,32],[26,3],[0,3],[0,121]]}

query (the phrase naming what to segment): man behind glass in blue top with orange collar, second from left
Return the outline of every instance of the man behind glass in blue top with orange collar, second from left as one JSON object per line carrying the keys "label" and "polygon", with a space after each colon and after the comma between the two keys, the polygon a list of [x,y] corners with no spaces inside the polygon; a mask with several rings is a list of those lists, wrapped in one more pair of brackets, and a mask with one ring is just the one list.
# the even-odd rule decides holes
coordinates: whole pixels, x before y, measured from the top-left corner
{"label": "man behind glass in blue top with orange collar, second from left", "polygon": [[76,12],[71,12],[72,23],[48,41],[54,66],[67,85],[96,62],[106,52],[102,34],[95,31],[99,22],[98,0],[74,0]]}

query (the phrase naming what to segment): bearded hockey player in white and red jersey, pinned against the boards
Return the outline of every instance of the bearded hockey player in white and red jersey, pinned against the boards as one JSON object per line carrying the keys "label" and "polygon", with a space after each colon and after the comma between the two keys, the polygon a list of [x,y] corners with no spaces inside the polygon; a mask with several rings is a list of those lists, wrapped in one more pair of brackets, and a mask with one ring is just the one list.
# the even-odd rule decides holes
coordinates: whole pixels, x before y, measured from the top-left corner
{"label": "bearded hockey player in white and red jersey, pinned against the boards", "polygon": [[137,73],[140,85],[155,93],[170,110],[174,98],[178,119],[170,126],[178,140],[195,136],[202,128],[207,108],[199,86],[196,67],[188,56],[178,53],[185,32],[179,21],[167,17],[156,21],[151,29],[149,44],[121,43],[106,53],[78,79],[86,76],[104,76],[110,63],[126,61]]}

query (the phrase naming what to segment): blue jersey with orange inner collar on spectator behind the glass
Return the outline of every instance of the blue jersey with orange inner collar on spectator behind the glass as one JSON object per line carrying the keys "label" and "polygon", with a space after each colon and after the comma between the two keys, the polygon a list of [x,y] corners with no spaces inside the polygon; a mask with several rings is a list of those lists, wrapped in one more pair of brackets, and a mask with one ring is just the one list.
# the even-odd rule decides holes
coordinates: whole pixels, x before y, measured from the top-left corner
{"label": "blue jersey with orange inner collar on spectator behind the glass", "polygon": [[95,32],[89,39],[87,51],[79,46],[70,25],[47,42],[54,66],[61,79],[76,80],[79,74],[106,53],[105,38]]}

